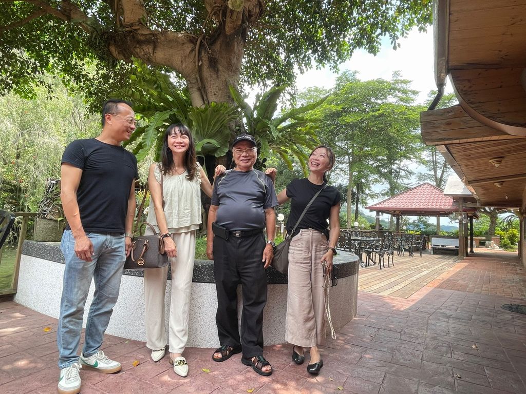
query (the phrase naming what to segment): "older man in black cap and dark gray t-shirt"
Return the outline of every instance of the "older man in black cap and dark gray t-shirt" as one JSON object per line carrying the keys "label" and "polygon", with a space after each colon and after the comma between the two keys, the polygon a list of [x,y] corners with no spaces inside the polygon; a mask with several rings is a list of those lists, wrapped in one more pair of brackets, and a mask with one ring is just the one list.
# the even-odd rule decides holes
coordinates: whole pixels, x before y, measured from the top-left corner
{"label": "older man in black cap and dark gray t-shirt", "polygon": [[[278,205],[272,180],[255,170],[256,141],[240,134],[232,147],[236,167],[214,183],[208,213],[206,252],[214,260],[217,290],[216,324],[221,347],[212,359],[225,361],[243,352],[241,362],[269,376],[263,357],[263,309],[267,302],[265,268],[274,256]],[[265,242],[264,228],[267,231]],[[243,286],[241,335],[237,320],[237,285]]]}

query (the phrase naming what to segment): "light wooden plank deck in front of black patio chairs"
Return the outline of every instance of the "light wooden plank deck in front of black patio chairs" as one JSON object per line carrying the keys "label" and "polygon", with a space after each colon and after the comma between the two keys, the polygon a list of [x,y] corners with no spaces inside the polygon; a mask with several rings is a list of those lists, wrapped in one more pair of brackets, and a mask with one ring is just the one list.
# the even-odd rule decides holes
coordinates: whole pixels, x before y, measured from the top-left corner
{"label": "light wooden plank deck in front of black patio chairs", "polygon": [[378,265],[360,268],[358,289],[380,295],[407,298],[438,277],[448,276],[447,271],[462,261],[452,254],[433,254],[424,251],[422,257],[395,255],[395,266],[379,269]]}

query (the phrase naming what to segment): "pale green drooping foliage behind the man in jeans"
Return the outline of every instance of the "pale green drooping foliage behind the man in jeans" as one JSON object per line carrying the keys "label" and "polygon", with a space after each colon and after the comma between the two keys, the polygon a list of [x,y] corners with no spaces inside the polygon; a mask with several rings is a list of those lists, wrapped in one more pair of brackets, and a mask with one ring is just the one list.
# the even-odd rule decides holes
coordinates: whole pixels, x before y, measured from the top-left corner
{"label": "pale green drooping foliage behind the man in jeans", "polygon": [[34,99],[0,97],[0,209],[37,212],[46,179],[60,178],[65,146],[100,132],[99,117],[86,115],[82,99],[56,78],[46,83],[53,96],[41,87]]}

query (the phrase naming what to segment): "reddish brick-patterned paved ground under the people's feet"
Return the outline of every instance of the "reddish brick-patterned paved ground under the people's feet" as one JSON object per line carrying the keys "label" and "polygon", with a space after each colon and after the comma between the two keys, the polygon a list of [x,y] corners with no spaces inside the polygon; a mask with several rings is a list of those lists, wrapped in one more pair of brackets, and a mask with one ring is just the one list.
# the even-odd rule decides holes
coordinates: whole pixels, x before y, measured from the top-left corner
{"label": "reddish brick-patterned paved ground under the people's feet", "polygon": [[[373,268],[377,275],[389,272]],[[487,277],[490,286],[484,286]],[[240,355],[218,363],[210,359],[213,349],[196,348],[185,352],[189,377],[179,378],[166,357],[151,361],[144,343],[106,336],[103,350],[123,371],[82,370],[82,393],[524,394],[526,315],[501,305],[526,300],[484,294],[513,294],[524,286],[514,255],[484,255],[444,270],[405,298],[360,291],[357,318],[322,347],[325,365],[316,378],[291,362],[288,345],[265,348],[275,370],[269,378],[242,365]],[[13,302],[0,303],[1,393],[56,392],[56,325]]]}

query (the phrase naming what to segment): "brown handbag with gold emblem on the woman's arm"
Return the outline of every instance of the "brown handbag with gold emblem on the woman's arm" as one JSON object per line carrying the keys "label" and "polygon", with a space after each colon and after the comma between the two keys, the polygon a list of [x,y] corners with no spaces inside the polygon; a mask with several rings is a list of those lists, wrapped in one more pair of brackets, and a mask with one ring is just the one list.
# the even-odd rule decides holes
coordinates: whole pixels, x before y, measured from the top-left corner
{"label": "brown handbag with gold emblem on the woman's arm", "polygon": [[[161,195],[163,196],[164,209],[164,194],[163,194],[163,172],[161,171]],[[153,225],[148,222],[143,222],[138,225],[139,218],[143,215],[144,203],[146,201],[146,194],[148,188],[144,193],[143,201],[137,211],[134,234],[139,230],[139,234],[143,232],[145,226],[148,226],[153,235],[138,235],[131,240],[131,251],[124,263],[124,269],[147,269],[147,268],[161,268],[168,265],[168,255],[165,252],[164,239],[160,234],[157,234]]]}

